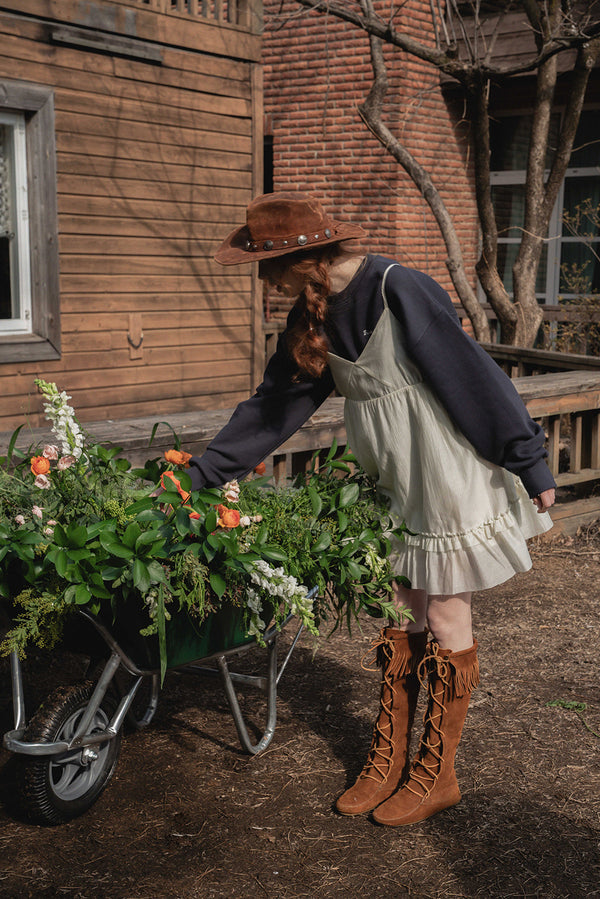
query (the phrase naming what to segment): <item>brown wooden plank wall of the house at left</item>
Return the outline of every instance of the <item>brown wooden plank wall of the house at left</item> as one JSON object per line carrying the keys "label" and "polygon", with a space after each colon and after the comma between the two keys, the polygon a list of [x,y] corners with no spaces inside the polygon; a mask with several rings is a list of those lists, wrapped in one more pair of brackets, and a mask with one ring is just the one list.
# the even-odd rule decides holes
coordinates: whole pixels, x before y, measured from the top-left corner
{"label": "brown wooden plank wall of the house at left", "polygon": [[[83,421],[227,408],[255,386],[254,278],[212,253],[261,176],[258,38],[230,28],[230,55],[182,49],[168,41],[181,18],[136,15],[145,39],[160,23],[162,64],[58,45],[41,16],[0,12],[0,81],[55,89],[63,347],[56,362],[0,356],[0,430],[42,424],[36,376]],[[223,45],[220,26],[185,24],[188,47]]]}

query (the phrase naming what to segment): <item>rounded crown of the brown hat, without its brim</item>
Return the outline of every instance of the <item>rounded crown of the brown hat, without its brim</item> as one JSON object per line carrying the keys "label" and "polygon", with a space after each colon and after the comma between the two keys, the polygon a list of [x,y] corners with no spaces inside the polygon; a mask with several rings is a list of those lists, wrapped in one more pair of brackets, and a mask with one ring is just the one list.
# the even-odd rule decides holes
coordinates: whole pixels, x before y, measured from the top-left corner
{"label": "rounded crown of the brown hat, without its brim", "polygon": [[330,225],[319,201],[301,193],[265,194],[250,203],[246,211],[246,226],[253,241],[294,238]]}

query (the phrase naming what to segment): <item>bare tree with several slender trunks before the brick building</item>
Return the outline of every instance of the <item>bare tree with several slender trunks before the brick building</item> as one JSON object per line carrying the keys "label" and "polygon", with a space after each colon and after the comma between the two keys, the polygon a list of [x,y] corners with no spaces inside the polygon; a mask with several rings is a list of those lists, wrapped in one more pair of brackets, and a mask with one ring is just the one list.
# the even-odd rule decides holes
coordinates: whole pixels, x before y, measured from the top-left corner
{"label": "bare tree with several slender trunks before the brick building", "polygon": [[[473,321],[480,340],[489,339],[487,317],[466,277],[460,243],[451,216],[420,162],[403,145],[384,121],[388,91],[383,45],[389,44],[410,56],[450,75],[463,86],[471,120],[475,194],[481,226],[481,254],[476,265],[485,294],[502,325],[502,339],[519,345],[532,345],[541,320],[535,285],[541,253],[548,233],[552,209],[557,199],[581,116],[592,68],[600,59],[600,14],[591,7],[569,0],[514,0],[503,6],[498,16],[480,16],[480,0],[471,0],[473,16],[468,23],[461,15],[458,0],[446,0],[446,22],[442,0],[430,0],[431,37],[435,46],[403,31],[400,9],[409,0],[390,3],[387,21],[378,14],[376,0],[296,0],[299,7],[327,13],[369,36],[373,83],[359,114],[386,151],[407,172],[429,205],[445,242],[446,265],[456,291]],[[382,4],[383,5],[383,4]],[[600,5],[600,4],[599,4]],[[518,63],[503,64],[494,57],[495,45],[505,16],[516,9],[531,29],[535,51]],[[460,39],[456,38],[456,34]],[[466,59],[459,59],[459,45]],[[566,87],[568,96],[559,132],[558,145],[552,151],[548,175],[549,133],[554,111],[554,93],[558,77],[558,54],[576,50],[577,59]],[[513,266],[513,295],[510,296],[498,270],[499,236],[490,173],[489,94],[516,74],[536,73],[536,97],[531,119],[531,137],[525,184],[525,218],[519,252]],[[513,225],[514,226],[514,225]]]}

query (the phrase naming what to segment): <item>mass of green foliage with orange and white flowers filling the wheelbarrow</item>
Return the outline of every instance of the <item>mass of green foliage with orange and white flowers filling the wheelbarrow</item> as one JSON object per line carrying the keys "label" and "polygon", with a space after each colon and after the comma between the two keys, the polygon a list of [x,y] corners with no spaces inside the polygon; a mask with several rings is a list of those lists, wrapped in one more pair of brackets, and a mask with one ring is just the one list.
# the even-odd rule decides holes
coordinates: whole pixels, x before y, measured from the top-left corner
{"label": "mass of green foliage with orange and white flowers filling the wheelbarrow", "polygon": [[331,617],[333,629],[350,625],[363,607],[400,619],[393,525],[349,452],[332,447],[321,468],[282,488],[261,465],[242,484],[192,493],[177,437],[163,459],[132,470],[117,448],[86,439],[66,393],[36,385],[55,442],[23,453],[17,429],[0,459],[0,598],[13,624],[3,654],[52,647],[75,609],[117,619],[131,602],[142,635],[158,635],[163,675],[166,629],[181,610],[202,622],[237,607],[259,641],[289,614],[313,634]]}

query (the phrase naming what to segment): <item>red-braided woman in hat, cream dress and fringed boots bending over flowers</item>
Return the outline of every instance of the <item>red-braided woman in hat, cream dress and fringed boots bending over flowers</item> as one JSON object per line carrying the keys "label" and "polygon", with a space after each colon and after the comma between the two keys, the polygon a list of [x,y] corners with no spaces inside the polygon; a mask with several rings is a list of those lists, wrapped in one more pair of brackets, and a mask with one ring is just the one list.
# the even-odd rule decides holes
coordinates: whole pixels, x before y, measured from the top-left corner
{"label": "red-braided woman in hat, cream dress and fringed boots bending over flowers", "polygon": [[[298,192],[249,205],[215,259],[259,261],[261,278],[298,299],[263,383],[190,460],[190,474],[193,489],[241,477],[334,387],[346,398],[348,443],[411,532],[394,546],[393,564],[412,584],[396,586],[395,599],[413,620],[384,628],[376,642],[371,748],[336,805],[401,825],[460,800],[454,755],[479,678],[471,594],[531,566],[526,540],[551,527],[555,484],[541,428],[462,330],[448,294],[420,272],[356,252],[348,241],[363,235]],[[424,733],[411,762],[425,680]]]}

